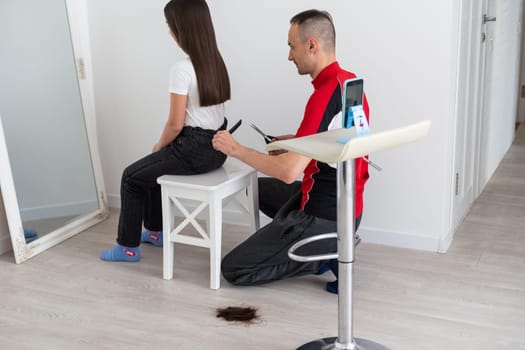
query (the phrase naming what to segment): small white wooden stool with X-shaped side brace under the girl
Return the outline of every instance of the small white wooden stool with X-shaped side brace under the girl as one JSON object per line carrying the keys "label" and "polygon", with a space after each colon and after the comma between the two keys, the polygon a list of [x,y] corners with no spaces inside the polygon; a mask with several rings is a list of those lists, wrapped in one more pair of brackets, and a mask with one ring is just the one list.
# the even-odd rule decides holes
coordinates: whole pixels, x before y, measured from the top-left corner
{"label": "small white wooden stool with X-shaped side brace under the girl", "polygon": [[[235,159],[212,172],[200,175],[164,175],[157,179],[162,192],[163,261],[164,279],[173,278],[174,243],[184,243],[210,249],[210,288],[219,289],[221,273],[222,208],[223,200],[236,199],[235,194],[246,190],[248,204],[242,208],[248,212],[253,232],[259,229],[259,201],[257,171]],[[199,201],[191,213],[180,199]],[[226,202],[226,201],[225,201]],[[239,202],[239,201],[238,201]],[[242,204],[242,203],[239,203]],[[185,216],[175,227],[175,207]],[[208,207],[208,232],[196,221],[196,216]],[[188,224],[200,237],[182,234]]]}

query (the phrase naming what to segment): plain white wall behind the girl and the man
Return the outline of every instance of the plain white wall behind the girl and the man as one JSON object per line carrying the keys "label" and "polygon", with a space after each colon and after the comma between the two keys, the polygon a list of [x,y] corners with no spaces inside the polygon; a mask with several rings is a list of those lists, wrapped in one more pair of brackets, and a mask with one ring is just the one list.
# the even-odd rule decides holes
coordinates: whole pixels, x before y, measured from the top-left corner
{"label": "plain white wall behind the girl and the man", "polygon": [[[168,35],[165,1],[91,0],[95,100],[110,205],[118,206],[123,168],[147,154],[168,113],[167,74],[181,51]],[[238,139],[261,151],[254,122],[270,134],[294,132],[312,91],[287,61],[289,19],[328,10],[343,67],[365,79],[371,126],[433,121],[418,144],[372,156],[361,233],[365,240],[436,251],[450,215],[452,103],[456,63],[454,0],[264,2],[210,0],[230,71],[230,120]]]}

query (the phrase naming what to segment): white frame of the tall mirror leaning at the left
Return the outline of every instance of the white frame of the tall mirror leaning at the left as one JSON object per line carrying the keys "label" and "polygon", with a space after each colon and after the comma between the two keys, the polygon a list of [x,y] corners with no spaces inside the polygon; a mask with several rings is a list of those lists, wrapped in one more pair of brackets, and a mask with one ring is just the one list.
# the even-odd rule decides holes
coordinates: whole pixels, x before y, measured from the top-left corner
{"label": "white frame of the tall mirror leaning at the left", "polygon": [[15,256],[15,262],[17,264],[20,264],[46,249],[63,242],[81,231],[84,231],[88,227],[101,222],[109,215],[96,137],[87,2],[86,0],[65,0],[64,2],[67,9],[69,31],[73,45],[73,55],[77,70],[82,107],[84,110],[84,123],[91,155],[93,174],[95,177],[95,188],[97,191],[99,209],[81,215],[68,224],[30,243],[26,243],[0,116],[0,190],[2,192],[8,228],[11,235],[11,244]]}

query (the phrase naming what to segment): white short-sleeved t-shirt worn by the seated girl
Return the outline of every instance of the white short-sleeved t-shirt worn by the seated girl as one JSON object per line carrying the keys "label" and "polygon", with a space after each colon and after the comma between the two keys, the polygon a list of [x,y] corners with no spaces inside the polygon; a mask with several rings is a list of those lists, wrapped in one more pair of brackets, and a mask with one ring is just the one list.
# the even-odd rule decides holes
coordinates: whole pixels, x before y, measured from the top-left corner
{"label": "white short-sleeved t-shirt worn by the seated girl", "polygon": [[200,106],[197,76],[189,57],[171,67],[169,92],[188,96],[185,126],[217,130],[224,123],[224,103]]}

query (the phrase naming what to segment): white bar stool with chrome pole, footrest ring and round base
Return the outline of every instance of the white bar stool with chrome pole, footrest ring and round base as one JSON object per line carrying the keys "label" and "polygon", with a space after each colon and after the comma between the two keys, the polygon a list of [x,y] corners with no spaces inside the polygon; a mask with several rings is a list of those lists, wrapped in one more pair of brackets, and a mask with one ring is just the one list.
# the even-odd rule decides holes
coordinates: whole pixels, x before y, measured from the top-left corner
{"label": "white bar stool with chrome pole, footrest ring and round base", "polygon": [[[303,344],[297,350],[388,350],[374,341],[353,336],[355,159],[417,141],[428,133],[430,124],[431,122],[426,120],[366,136],[356,136],[354,128],[336,129],[296,139],[275,141],[266,146],[268,150],[282,148],[324,163],[337,163],[337,233],[325,233],[303,239],[290,248],[288,256],[292,260],[302,262],[338,259],[338,336],[314,340]],[[335,254],[295,254],[295,251],[305,244],[332,238],[337,238]]]}

